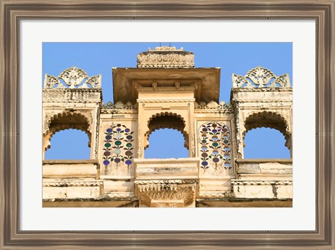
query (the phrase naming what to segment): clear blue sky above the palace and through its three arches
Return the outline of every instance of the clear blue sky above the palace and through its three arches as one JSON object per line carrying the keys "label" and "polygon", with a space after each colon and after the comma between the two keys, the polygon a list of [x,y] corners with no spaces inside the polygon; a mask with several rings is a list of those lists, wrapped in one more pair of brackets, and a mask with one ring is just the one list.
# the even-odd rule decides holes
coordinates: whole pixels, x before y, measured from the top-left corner
{"label": "clear blue sky above the palace and through its three arches", "polygon": [[[57,76],[72,66],[82,68],[89,76],[102,75],[103,101],[113,101],[112,68],[136,67],[136,55],[170,43],[43,43],[43,85],[45,73]],[[245,75],[262,66],[275,75],[292,79],[292,43],[171,43],[195,54],[195,67],[220,67],[220,101],[230,101],[232,73]],[[169,140],[169,141],[168,141]],[[164,145],[162,145],[164,141]],[[89,159],[88,138],[82,131],[60,131],[52,137],[45,159]],[[187,157],[181,133],[158,130],[151,133],[145,158]],[[248,131],[245,158],[290,158],[283,135],[270,128]]]}

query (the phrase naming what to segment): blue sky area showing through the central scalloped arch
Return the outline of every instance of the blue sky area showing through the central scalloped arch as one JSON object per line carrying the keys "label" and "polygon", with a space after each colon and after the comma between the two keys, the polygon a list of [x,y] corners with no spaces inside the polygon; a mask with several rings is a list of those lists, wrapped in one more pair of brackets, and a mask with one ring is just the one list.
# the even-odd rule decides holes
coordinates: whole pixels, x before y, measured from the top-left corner
{"label": "blue sky area showing through the central scalloped arch", "polygon": [[149,147],[144,157],[150,158],[186,158],[188,149],[184,147],[184,136],[180,131],[172,128],[161,128],[149,136]]}

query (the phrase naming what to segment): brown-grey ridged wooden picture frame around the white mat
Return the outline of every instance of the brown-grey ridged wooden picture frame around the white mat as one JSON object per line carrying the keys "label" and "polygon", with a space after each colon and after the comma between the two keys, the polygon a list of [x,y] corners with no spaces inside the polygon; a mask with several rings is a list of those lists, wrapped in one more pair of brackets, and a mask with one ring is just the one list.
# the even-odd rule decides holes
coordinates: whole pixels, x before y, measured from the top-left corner
{"label": "brown-grey ridged wooden picture frame around the white mat", "polygon": [[[1,249],[334,249],[334,8],[327,1],[1,0]],[[315,20],[317,187],[313,231],[20,230],[20,21]]]}

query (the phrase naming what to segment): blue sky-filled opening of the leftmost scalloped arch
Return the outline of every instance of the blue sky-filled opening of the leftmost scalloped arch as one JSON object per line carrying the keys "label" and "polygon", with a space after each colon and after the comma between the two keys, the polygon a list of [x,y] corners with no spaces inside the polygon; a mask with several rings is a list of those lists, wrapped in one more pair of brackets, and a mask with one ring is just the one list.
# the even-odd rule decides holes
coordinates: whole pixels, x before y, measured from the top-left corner
{"label": "blue sky-filled opening of the leftmost scalloped arch", "polygon": [[91,149],[88,144],[89,136],[84,131],[73,128],[61,130],[52,135],[45,159],[90,159]]}

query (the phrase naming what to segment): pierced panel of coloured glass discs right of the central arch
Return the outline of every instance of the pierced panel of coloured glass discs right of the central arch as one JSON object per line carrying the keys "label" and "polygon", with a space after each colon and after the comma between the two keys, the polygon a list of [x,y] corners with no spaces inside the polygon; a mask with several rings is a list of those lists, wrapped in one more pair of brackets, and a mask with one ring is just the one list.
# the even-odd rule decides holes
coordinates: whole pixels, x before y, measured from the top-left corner
{"label": "pierced panel of coloured glass discs right of the central arch", "polygon": [[207,122],[199,127],[201,168],[232,168],[231,135],[227,125]]}

